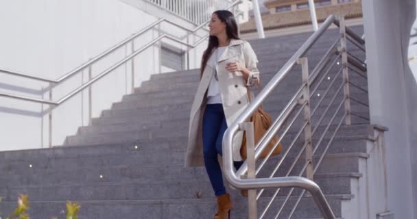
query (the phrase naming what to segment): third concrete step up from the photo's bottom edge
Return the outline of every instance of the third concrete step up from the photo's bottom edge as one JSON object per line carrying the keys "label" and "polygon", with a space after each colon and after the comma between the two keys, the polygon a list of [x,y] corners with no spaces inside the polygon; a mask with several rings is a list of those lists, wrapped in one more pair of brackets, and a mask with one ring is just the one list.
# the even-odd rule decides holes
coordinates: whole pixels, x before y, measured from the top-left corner
{"label": "third concrete step up from the photo's bottom edge", "polygon": [[[315,142],[313,140],[313,142]],[[324,142],[326,143],[326,142]],[[284,143],[283,143],[284,144]],[[289,153],[287,159],[284,160],[280,171],[278,171],[276,176],[285,176],[285,172],[288,172],[289,167],[294,163],[296,153],[298,153],[299,148],[302,144],[296,144],[296,146],[291,149],[293,153]],[[315,144],[313,143],[315,146]],[[276,164],[281,160],[281,157],[287,151],[287,146],[289,144],[284,144],[283,153],[276,157],[270,158],[270,160],[265,164],[259,176],[269,176],[272,170],[274,170]],[[364,145],[360,145],[364,147]],[[324,147],[324,144],[321,146]],[[298,149],[297,149],[298,148]],[[348,148],[348,147],[344,147]],[[34,159],[31,161],[25,162],[8,162],[0,168],[2,175],[13,175],[16,172],[19,172],[21,175],[34,175],[38,172],[43,171],[53,171],[53,170],[77,170],[81,168],[93,168],[97,167],[97,175],[93,177],[99,177],[99,174],[102,174],[102,170],[106,167],[114,166],[158,166],[158,165],[183,165],[185,151],[171,152],[167,153],[163,151],[161,153],[158,150],[145,152],[146,149],[141,149],[139,151],[134,151],[130,154],[117,154],[117,155],[97,155],[97,156],[77,156],[77,157],[60,157],[58,159]],[[322,151],[322,150],[319,150]],[[320,152],[321,153],[321,152]],[[320,154],[315,156],[313,164],[318,162]],[[335,160],[336,158],[336,160]],[[365,153],[342,153],[342,154],[328,154],[324,158],[322,166],[320,166],[318,173],[328,173],[328,172],[358,172],[357,167],[358,159],[366,158]],[[262,160],[259,161],[258,166],[261,164]],[[300,168],[304,166],[305,159],[300,157],[297,161],[296,168],[292,170],[290,175],[298,175],[300,173]],[[333,164],[335,163],[335,164]],[[343,163],[343,164],[339,164]],[[331,166],[329,166],[331,164]],[[31,167],[29,167],[29,165]],[[338,166],[337,166],[338,165]],[[348,166],[349,168],[346,168]],[[356,167],[356,169],[355,169]],[[146,175],[154,175],[152,168],[148,169],[150,172],[147,172]],[[74,172],[74,174],[76,174]],[[80,177],[84,177],[80,175]],[[105,175],[105,177],[107,177]],[[91,178],[91,176],[90,176]],[[80,178],[78,178],[80,179]],[[82,178],[84,179],[84,178]],[[96,178],[98,179],[98,178]]]}

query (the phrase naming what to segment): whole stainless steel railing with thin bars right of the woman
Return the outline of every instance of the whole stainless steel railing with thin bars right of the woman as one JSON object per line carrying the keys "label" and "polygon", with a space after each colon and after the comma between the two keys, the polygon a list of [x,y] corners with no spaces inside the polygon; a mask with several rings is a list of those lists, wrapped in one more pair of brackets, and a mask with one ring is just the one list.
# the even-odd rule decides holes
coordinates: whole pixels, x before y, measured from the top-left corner
{"label": "whole stainless steel railing with thin bars right of the woman", "polygon": [[[331,44],[329,50],[326,51],[310,74],[308,67],[309,60],[305,57],[305,54],[333,24],[339,27],[340,35],[335,42]],[[237,188],[246,188],[250,190],[248,205],[250,219],[265,218],[267,215],[267,218],[271,218],[272,215],[267,213],[270,213],[272,210],[271,206],[274,203],[276,205],[278,202],[276,201],[276,197],[282,188],[290,188],[290,190],[287,192],[287,196],[285,196],[283,203],[280,203],[281,207],[274,215],[275,218],[280,217],[283,213],[284,208],[287,203],[289,203],[289,199],[291,198],[291,194],[293,194],[295,188],[301,188],[302,192],[298,195],[298,198],[294,203],[294,207],[291,208],[289,215],[285,215],[285,218],[291,218],[294,216],[294,212],[300,204],[302,197],[305,195],[306,190],[310,192],[324,218],[335,218],[335,215],[333,214],[329,203],[326,201],[324,194],[320,190],[319,186],[312,181],[313,176],[317,172],[320,164],[327,154],[327,151],[329,151],[329,147],[335,139],[337,131],[341,128],[342,123],[350,125],[351,116],[358,116],[365,120],[369,120],[365,116],[352,112],[350,107],[350,101],[355,101],[364,106],[368,105],[350,95],[349,86],[355,83],[349,80],[348,70],[366,78],[366,64],[361,61],[361,59],[353,55],[353,53],[348,52],[346,47],[347,41],[352,42],[352,44],[355,47],[358,47],[360,51],[365,51],[363,47],[365,44],[364,40],[357,36],[354,31],[345,26],[343,17],[336,18],[333,15],[329,16],[329,18],[322,23],[318,31],[315,31],[315,33],[312,34],[304,44],[302,44],[300,49],[296,51],[283,68],[281,68],[271,81],[267,83],[265,88],[263,88],[263,90],[246,108],[246,110],[244,110],[237,120],[235,120],[235,122],[232,123],[226,130],[223,138],[223,163],[226,179]],[[270,129],[267,130],[263,138],[261,138],[255,146],[253,142],[252,123],[246,123],[246,121],[248,121],[250,116],[257,111],[261,104],[265,102],[265,99],[272,94],[273,90],[281,85],[285,76],[289,75],[290,70],[292,70],[296,65],[300,65],[302,69],[302,83],[300,88],[298,88],[294,96],[289,100],[287,105],[285,105],[276,120],[274,120]],[[339,69],[333,70],[335,67],[339,67]],[[331,75],[331,77],[333,77],[333,79],[331,79],[329,74],[334,72],[336,73],[335,75]],[[342,83],[336,85],[337,79],[342,79]],[[326,83],[324,83],[324,81],[326,81]],[[320,94],[321,97],[317,101],[315,107],[312,107],[311,98],[315,92],[318,91],[318,89],[322,89],[322,85],[327,86],[326,90]],[[368,92],[366,89],[361,88],[361,86],[356,84],[354,87],[360,88],[358,90],[361,92]],[[339,98],[338,101],[336,101],[340,94],[342,94],[342,99]],[[325,98],[327,101],[330,99],[330,101],[324,104]],[[318,108],[320,106],[325,107],[321,115],[318,114]],[[335,110],[330,110],[332,107],[335,108]],[[344,113],[340,115],[342,107],[344,107]],[[294,137],[291,138],[291,143],[289,143],[288,146],[285,146],[286,151],[284,151],[283,155],[279,157],[278,162],[272,163],[276,162],[276,159],[272,160],[270,158],[273,150],[270,151],[269,155],[267,155],[265,159],[257,162],[263,150],[266,149],[267,145],[274,138],[274,136],[278,134],[278,131],[281,131],[281,133],[279,133],[280,138],[278,138],[278,142],[276,142],[274,147],[278,146],[278,143],[281,142],[285,136],[287,136],[290,127],[296,123],[296,120],[301,114],[303,116],[300,123],[300,129],[296,132]],[[312,119],[313,116],[314,120]],[[327,122],[324,126],[321,126],[324,120],[327,120]],[[333,124],[337,125],[334,127],[332,126]],[[319,127],[324,127],[324,131],[322,131],[318,141],[313,145],[312,136],[319,133]],[[233,156],[231,152],[233,137],[238,131],[246,131],[246,133],[248,133],[248,159],[243,166],[235,172],[235,170],[233,170]],[[296,143],[298,142],[300,136],[302,136],[302,133],[304,133],[303,136],[305,139],[301,148],[298,149],[296,146],[299,147],[300,145]],[[325,137],[328,137],[329,135],[330,138],[325,140]],[[252,143],[252,145],[250,143]],[[325,146],[323,148],[321,145],[324,143]],[[319,148],[319,146],[321,147]],[[296,149],[299,150],[298,153],[296,153],[296,156],[289,157],[289,151]],[[300,164],[300,158],[303,154],[305,155],[305,160],[301,160]],[[252,155],[252,157],[249,157],[250,155]],[[315,165],[313,165],[313,159],[316,161]],[[287,168],[285,173],[281,170],[281,168],[283,168],[283,164],[289,165],[289,168]],[[270,170],[265,170],[265,166],[267,165],[272,168],[272,171],[265,172]],[[263,171],[263,175],[266,176],[260,176],[261,170]],[[278,170],[281,170],[281,173],[279,173],[280,176],[275,177],[278,174]],[[291,175],[291,172],[293,171],[297,172],[295,176]],[[267,188],[275,188],[275,192],[270,198],[270,201],[267,202],[265,208],[260,211],[258,216],[256,203],[260,201],[259,199],[261,198],[261,195]],[[257,190],[259,190],[259,192]]]}

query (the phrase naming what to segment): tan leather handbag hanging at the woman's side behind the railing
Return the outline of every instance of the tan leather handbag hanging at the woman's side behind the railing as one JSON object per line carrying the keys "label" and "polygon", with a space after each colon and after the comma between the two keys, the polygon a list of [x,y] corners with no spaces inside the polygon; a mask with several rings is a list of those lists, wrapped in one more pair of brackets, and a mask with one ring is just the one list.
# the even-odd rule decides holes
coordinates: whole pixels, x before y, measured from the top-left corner
{"label": "tan leather handbag hanging at the woman's side behind the railing", "polygon": [[[259,85],[259,82],[257,83],[257,85],[258,85],[258,90],[260,92],[261,91],[261,86]],[[252,102],[252,96],[250,95],[249,88],[248,88],[248,96],[249,96],[249,102]],[[261,140],[262,136],[267,131],[267,129],[269,129],[271,127],[272,120],[271,120],[270,114],[263,111],[263,105],[261,105],[261,107],[259,107],[257,112],[254,112],[254,114],[250,118],[250,121],[253,122],[253,125],[254,125],[254,142],[255,142],[255,146],[256,146],[257,143],[259,142],[259,140]],[[278,136],[274,136],[274,138],[272,138],[270,144],[268,144],[267,148],[265,150],[263,150],[263,152],[261,154],[261,157],[259,157],[259,158],[260,159],[265,158],[267,156],[267,154],[270,153],[270,151],[272,150],[272,148],[274,147],[276,142],[278,142]],[[274,152],[272,152],[271,157],[274,156],[274,155],[280,154],[282,149],[283,149],[283,146],[280,142],[278,144],[278,146],[274,149]],[[243,140],[242,140],[242,145],[241,145],[241,149],[240,149],[240,154],[241,154],[241,157],[243,159],[246,159],[246,157],[247,157],[246,131],[243,132]]]}

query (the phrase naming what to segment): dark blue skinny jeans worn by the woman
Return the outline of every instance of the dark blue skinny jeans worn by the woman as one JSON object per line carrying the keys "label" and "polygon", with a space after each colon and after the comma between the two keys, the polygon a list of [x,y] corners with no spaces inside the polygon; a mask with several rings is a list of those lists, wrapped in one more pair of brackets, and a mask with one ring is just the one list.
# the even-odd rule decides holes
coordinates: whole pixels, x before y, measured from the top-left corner
{"label": "dark blue skinny jeans worn by the woman", "polygon": [[[226,118],[222,104],[208,104],[203,116],[203,154],[204,166],[211,186],[216,196],[226,194],[223,184],[222,169],[220,168],[217,154],[222,155],[222,140],[227,129]],[[239,169],[243,162],[233,162]]]}

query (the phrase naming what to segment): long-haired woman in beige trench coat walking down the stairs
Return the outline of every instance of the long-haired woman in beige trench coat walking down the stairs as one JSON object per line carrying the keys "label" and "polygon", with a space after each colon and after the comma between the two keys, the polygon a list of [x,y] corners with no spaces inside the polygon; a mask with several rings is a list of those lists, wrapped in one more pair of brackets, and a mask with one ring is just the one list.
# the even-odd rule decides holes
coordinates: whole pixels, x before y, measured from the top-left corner
{"label": "long-haired woman in beige trench coat walking down the stairs", "polygon": [[[212,14],[208,47],[202,56],[201,80],[191,107],[186,166],[204,164],[217,196],[215,219],[228,218],[233,205],[224,188],[217,155],[228,125],[249,104],[247,87],[259,80],[257,55],[237,34],[235,16],[227,10]],[[235,168],[243,163],[240,147],[243,133],[233,140]],[[242,191],[242,195],[247,191]]]}

